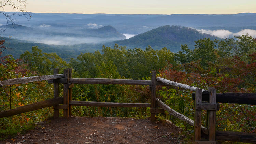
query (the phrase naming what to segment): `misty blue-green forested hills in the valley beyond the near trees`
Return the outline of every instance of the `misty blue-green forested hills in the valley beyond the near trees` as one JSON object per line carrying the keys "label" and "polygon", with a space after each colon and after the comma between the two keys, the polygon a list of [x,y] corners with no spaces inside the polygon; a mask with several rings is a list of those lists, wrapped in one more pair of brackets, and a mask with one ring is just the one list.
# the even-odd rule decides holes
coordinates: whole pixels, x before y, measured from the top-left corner
{"label": "misty blue-green forested hills in the valley beyond the near trees", "polygon": [[[24,26],[15,27],[17,29],[24,28]],[[25,27],[25,29],[31,29]],[[108,37],[112,33],[117,33],[116,29],[112,26],[105,26],[98,29],[87,29],[88,33],[97,34],[103,33],[105,37]],[[28,32],[29,33],[29,32]],[[83,33],[83,31],[82,31]],[[100,35],[100,34],[99,34]],[[122,35],[124,37],[124,35]],[[121,38],[119,33],[119,38]],[[25,51],[31,51],[31,47],[38,46],[45,53],[57,53],[63,60],[69,61],[71,58],[76,58],[80,53],[94,52],[101,50],[102,46],[114,47],[118,44],[129,49],[141,48],[145,49],[150,45],[153,49],[162,49],[166,47],[171,52],[178,52],[181,45],[187,44],[189,49],[194,48],[194,41],[202,38],[219,39],[209,34],[202,34],[195,29],[181,27],[181,26],[162,26],[148,32],[136,35],[129,39],[113,41],[113,42],[101,42],[101,43],[81,43],[75,45],[48,45],[44,43],[33,43],[26,40],[17,40],[13,38],[4,38],[5,46],[10,49],[6,49],[3,54],[12,54],[14,58],[19,58],[20,54]],[[80,40],[80,39],[78,39]]]}

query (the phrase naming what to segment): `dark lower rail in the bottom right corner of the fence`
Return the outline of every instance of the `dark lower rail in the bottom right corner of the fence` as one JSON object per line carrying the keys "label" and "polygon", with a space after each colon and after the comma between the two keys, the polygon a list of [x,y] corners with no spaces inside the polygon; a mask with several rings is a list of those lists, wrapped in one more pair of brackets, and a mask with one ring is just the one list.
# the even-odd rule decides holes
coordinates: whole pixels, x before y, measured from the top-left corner
{"label": "dark lower rail in the bottom right corner of the fence", "polygon": [[256,143],[256,133],[216,131],[216,140]]}

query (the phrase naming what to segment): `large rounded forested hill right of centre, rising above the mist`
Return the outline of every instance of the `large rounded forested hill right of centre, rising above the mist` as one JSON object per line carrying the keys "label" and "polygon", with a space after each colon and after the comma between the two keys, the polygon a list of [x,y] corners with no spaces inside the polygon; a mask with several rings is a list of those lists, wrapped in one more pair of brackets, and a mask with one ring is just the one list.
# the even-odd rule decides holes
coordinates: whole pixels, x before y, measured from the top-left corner
{"label": "large rounded forested hill right of centre, rising above the mist", "polygon": [[212,40],[219,39],[218,37],[209,34],[202,34],[192,28],[166,25],[129,39],[114,41],[114,43],[128,48],[137,47],[144,49],[148,45],[153,49],[167,47],[172,52],[177,52],[180,50],[181,44],[187,44],[189,48],[193,49],[195,45],[194,41],[203,38],[210,38]]}

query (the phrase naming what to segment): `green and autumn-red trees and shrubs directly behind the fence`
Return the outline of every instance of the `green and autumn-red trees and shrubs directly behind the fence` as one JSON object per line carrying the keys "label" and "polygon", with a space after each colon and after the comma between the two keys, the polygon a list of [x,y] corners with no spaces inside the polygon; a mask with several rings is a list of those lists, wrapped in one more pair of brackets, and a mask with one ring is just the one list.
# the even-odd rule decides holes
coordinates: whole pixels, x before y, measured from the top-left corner
{"label": "green and autumn-red trees and shrubs directly behind the fence", "polygon": [[[170,26],[161,27],[169,28]],[[177,29],[187,29],[175,27]],[[191,32],[193,32],[191,30]],[[200,34],[199,34],[200,35]],[[161,35],[171,38],[171,35]],[[182,37],[178,37],[182,38]],[[185,38],[185,37],[184,37]],[[3,44],[4,41],[1,41]],[[199,88],[215,87],[222,92],[256,92],[256,39],[249,35],[225,40],[203,38],[196,40],[194,49],[186,44],[173,53],[167,48],[145,49],[115,45],[103,46],[101,51],[81,53],[77,59],[63,61],[56,53],[43,53],[41,47],[14,59],[1,54],[0,80],[35,75],[48,75],[54,68],[73,69],[73,78],[133,78],[149,79],[150,71],[157,70],[157,77],[193,85]],[[1,47],[3,50],[4,47]],[[4,50],[6,51],[6,49]],[[45,81],[0,87],[0,111],[53,97],[52,84]],[[193,119],[194,105],[191,91],[171,86],[157,87],[157,98],[171,108]],[[62,91],[60,92],[62,93]],[[72,100],[99,102],[147,103],[150,91],[144,85],[74,85]],[[225,131],[256,132],[253,105],[221,104],[217,111],[217,129]],[[106,116],[146,118],[145,108],[72,107],[74,116]],[[52,116],[51,109],[42,109],[0,119],[1,138],[31,129],[35,122]],[[159,120],[169,119],[185,131],[193,128],[170,115],[157,115]],[[205,118],[205,113],[202,115]]]}

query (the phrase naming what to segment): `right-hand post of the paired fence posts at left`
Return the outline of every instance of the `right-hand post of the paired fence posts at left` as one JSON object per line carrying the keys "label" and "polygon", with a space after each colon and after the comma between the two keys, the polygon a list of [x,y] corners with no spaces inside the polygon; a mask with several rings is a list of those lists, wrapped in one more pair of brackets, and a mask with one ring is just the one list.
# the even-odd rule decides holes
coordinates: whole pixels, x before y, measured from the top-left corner
{"label": "right-hand post of the paired fence posts at left", "polygon": [[63,110],[65,118],[69,117],[69,69],[64,70],[64,78],[67,79],[67,83],[63,86],[63,105],[67,106],[67,109]]}

